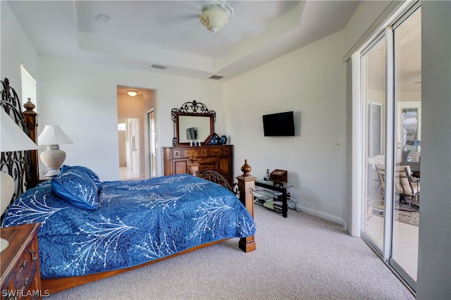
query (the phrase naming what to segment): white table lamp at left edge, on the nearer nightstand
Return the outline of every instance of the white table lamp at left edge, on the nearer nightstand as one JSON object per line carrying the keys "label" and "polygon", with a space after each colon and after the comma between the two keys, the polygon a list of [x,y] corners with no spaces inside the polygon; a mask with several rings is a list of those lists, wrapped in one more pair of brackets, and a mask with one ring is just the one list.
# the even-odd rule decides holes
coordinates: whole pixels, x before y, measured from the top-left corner
{"label": "white table lamp at left edge, on the nearer nightstand", "polygon": [[[23,130],[20,130],[20,127],[14,123],[8,113],[6,113],[3,108],[0,108],[0,111],[0,151],[10,152],[37,149],[37,145],[30,139],[30,137],[25,135]],[[13,177],[4,172],[0,172],[0,180],[0,212],[3,214],[13,198],[15,182]],[[9,243],[6,239],[0,238],[1,251],[8,248],[8,245]]]}

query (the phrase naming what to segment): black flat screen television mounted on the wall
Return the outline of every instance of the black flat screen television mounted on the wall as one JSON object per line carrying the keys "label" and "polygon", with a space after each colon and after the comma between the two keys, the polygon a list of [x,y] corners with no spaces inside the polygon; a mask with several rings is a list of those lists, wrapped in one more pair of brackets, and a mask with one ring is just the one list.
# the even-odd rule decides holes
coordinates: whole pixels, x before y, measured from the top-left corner
{"label": "black flat screen television mounted on the wall", "polygon": [[272,113],[263,115],[263,131],[265,137],[292,137],[295,135],[293,112]]}

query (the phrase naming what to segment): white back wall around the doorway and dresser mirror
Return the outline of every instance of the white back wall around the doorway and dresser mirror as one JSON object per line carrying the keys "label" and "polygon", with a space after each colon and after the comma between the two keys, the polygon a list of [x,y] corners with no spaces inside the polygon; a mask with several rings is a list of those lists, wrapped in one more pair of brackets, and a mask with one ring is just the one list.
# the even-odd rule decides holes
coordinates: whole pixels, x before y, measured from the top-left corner
{"label": "white back wall around the doorway and dresser mirror", "polygon": [[[163,75],[80,63],[59,58],[40,58],[40,127],[58,124],[74,144],[61,145],[65,163],[85,165],[101,180],[118,180],[117,85],[156,89],[156,161],[162,175],[161,146],[172,146],[171,109],[197,100],[216,111],[216,131],[224,132],[221,85],[209,80]],[[158,157],[159,155],[159,157]]]}

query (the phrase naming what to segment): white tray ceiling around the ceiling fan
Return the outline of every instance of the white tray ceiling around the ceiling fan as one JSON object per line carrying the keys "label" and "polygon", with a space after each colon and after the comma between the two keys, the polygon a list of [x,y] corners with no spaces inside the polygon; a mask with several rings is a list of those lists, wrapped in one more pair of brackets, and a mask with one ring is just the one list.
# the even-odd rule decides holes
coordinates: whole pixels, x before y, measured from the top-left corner
{"label": "white tray ceiling around the ceiling fan", "polygon": [[[8,1],[39,55],[197,78],[240,75],[342,30],[359,1],[227,1],[214,40],[205,1]],[[98,21],[106,14],[109,20]],[[151,68],[165,65],[166,70]]]}

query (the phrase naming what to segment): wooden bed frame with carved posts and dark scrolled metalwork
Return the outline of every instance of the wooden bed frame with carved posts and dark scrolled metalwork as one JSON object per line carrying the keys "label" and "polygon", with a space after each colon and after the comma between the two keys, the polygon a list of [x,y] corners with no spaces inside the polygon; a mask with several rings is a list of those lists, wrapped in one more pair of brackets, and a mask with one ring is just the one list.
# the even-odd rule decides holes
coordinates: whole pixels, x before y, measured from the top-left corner
{"label": "wooden bed frame with carved posts and dark scrolled metalwork", "polygon": [[[3,90],[1,91],[1,102],[0,109],[4,109],[11,118],[16,121],[16,123],[23,129],[23,131],[30,136],[33,142],[37,143],[37,113],[35,113],[34,108],[35,105],[31,103],[30,99],[28,102],[24,104],[25,111],[21,111],[20,108],[20,100],[16,94],[16,91],[12,87],[9,86],[8,78],[5,78],[4,81],[1,81],[3,85]],[[16,158],[17,156],[17,158]],[[19,163],[11,163],[11,158],[16,158],[16,161],[20,161]],[[14,168],[10,167],[14,165]],[[199,175],[199,171],[196,171],[196,165],[194,161],[194,165],[188,165],[188,173],[193,175]],[[193,171],[194,168],[194,171]],[[37,150],[32,151],[20,151],[17,153],[12,152],[2,152],[1,153],[1,162],[0,162],[0,171],[5,170],[6,173],[11,175],[13,179],[16,181],[16,192],[13,196],[13,199],[16,199],[20,194],[25,192],[25,190],[35,187],[39,183],[39,160]],[[250,175],[250,171],[252,168],[247,164],[247,160],[245,160],[245,165],[241,167],[242,175],[237,176],[237,192],[238,197],[241,203],[247,208],[249,213],[254,217],[254,183],[256,177]],[[217,173],[216,173],[217,174]],[[218,174],[217,174],[218,175]],[[212,175],[211,171],[208,172],[204,177],[207,180],[214,181],[216,183],[220,183],[222,177],[221,175]],[[218,179],[219,178],[219,179]],[[225,181],[226,182],[226,181]],[[227,183],[227,182],[226,182]],[[230,188],[230,186],[229,186]],[[235,191],[236,192],[236,191]],[[167,258],[171,258],[173,256],[178,256],[180,254],[185,254],[190,251],[194,251],[197,249],[204,248],[206,246],[211,246],[212,244],[217,244],[219,242],[223,242],[225,239],[210,242],[207,244],[202,244],[199,246],[195,246],[191,249],[187,249],[185,251],[181,251],[179,253],[173,254],[171,256],[166,256],[163,258],[156,259],[154,261],[150,261],[148,263],[143,263],[141,265],[135,265],[134,267],[124,268],[121,270],[112,270],[102,273],[96,273],[91,275],[82,275],[82,276],[73,276],[73,277],[61,277],[55,279],[42,279],[42,291],[49,292],[53,294],[55,292],[60,292],[64,289],[69,289],[71,287],[78,287],[79,285],[85,285],[86,283],[93,282],[96,280],[101,280],[106,277],[110,277],[116,274],[124,273],[129,270],[133,270],[136,268],[140,268],[144,265],[150,265],[152,263],[157,263],[159,261],[163,261]],[[243,237],[240,239],[238,246],[242,251],[249,252],[256,249],[256,244],[254,240],[254,236],[252,237]]]}

